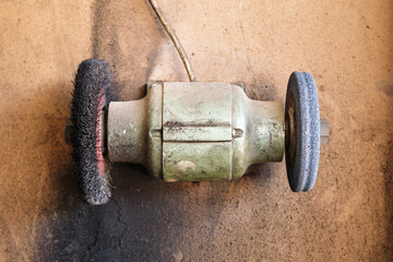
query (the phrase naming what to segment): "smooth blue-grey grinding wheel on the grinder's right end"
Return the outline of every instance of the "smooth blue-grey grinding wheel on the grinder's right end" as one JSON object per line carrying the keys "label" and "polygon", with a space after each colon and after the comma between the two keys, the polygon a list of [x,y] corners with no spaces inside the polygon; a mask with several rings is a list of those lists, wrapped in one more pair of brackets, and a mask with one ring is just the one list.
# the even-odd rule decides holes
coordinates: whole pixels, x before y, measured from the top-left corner
{"label": "smooth blue-grey grinding wheel on the grinder's right end", "polygon": [[294,72],[285,102],[285,159],[290,189],[310,191],[320,155],[320,112],[311,74]]}

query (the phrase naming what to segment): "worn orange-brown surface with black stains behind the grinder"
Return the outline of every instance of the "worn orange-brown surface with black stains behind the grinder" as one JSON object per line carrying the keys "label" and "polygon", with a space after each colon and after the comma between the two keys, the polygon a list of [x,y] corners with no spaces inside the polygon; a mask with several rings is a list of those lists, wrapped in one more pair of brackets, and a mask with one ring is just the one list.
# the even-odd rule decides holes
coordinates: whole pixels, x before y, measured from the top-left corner
{"label": "worn orange-brown surface with black stains behind the grinder", "polygon": [[158,2],[200,81],[283,102],[291,71],[313,74],[314,189],[293,193],[284,163],[199,184],[124,164],[111,202],[82,203],[63,141],[79,62],[106,59],[122,100],[187,74],[146,0],[3,0],[0,261],[392,261],[393,2]]}

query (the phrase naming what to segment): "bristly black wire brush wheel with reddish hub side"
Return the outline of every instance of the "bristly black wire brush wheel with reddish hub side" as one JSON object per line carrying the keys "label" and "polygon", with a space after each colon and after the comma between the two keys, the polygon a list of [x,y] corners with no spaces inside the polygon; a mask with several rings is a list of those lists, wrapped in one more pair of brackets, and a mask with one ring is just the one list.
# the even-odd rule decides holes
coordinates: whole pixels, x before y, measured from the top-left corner
{"label": "bristly black wire brush wheel with reddish hub side", "polygon": [[106,61],[84,60],[79,66],[72,94],[75,175],[84,200],[93,205],[105,204],[111,196],[109,162],[105,152],[110,82]]}

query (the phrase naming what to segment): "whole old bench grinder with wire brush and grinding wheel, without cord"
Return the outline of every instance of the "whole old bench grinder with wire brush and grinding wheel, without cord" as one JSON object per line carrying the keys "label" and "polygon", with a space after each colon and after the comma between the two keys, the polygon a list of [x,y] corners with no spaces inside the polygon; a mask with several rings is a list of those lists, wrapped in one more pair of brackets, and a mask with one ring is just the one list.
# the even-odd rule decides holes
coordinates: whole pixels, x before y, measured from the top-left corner
{"label": "whole old bench grinder with wire brush and grinding wheel, without cord", "polygon": [[309,73],[290,75],[285,111],[281,102],[252,100],[241,85],[222,82],[157,82],[140,100],[111,102],[110,82],[105,61],[83,61],[66,127],[90,204],[109,200],[110,163],[117,162],[142,164],[168,182],[233,180],[250,165],[281,162],[285,152],[290,189],[313,187],[321,127]]}

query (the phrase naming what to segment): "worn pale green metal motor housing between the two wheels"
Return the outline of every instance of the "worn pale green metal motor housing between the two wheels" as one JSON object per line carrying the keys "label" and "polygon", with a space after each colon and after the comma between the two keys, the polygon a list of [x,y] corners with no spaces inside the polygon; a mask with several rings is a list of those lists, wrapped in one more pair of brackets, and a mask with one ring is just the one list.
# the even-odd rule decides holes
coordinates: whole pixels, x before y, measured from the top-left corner
{"label": "worn pale green metal motor housing between the two wheels", "polygon": [[284,116],[282,103],[252,100],[238,84],[154,83],[140,100],[109,104],[108,157],[165,181],[237,179],[283,159]]}

